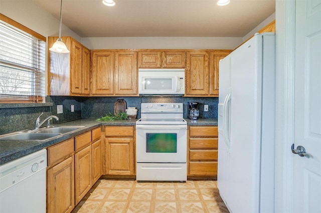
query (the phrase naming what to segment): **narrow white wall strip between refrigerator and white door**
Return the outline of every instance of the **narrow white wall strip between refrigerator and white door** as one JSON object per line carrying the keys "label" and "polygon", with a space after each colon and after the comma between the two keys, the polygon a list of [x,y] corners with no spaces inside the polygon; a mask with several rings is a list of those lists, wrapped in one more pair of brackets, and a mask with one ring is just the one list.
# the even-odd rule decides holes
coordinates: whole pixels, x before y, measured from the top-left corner
{"label": "narrow white wall strip between refrigerator and white door", "polygon": [[292,212],[291,187],[293,186],[289,186],[289,182],[292,181],[293,177],[291,176],[292,167],[288,162],[288,158],[289,155],[293,154],[291,154],[290,145],[287,142],[291,138],[290,126],[287,122],[289,119],[287,108],[291,104],[288,100],[291,91],[287,90],[287,86],[291,82],[292,76],[289,70],[291,64],[287,63],[287,57],[293,52],[286,52],[286,45],[289,45],[289,42],[286,42],[286,34],[292,33],[288,31],[287,26],[290,18],[287,4],[291,4],[291,2],[276,0],[275,3],[275,213],[281,213]]}

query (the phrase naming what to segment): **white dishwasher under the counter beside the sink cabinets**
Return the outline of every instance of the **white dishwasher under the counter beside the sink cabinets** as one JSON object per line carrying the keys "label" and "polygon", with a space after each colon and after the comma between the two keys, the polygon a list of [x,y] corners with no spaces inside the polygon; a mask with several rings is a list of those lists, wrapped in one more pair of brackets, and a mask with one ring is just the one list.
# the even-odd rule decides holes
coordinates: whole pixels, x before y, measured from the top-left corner
{"label": "white dishwasher under the counter beside the sink cabinets", "polygon": [[0,165],[0,212],[46,212],[47,150]]}

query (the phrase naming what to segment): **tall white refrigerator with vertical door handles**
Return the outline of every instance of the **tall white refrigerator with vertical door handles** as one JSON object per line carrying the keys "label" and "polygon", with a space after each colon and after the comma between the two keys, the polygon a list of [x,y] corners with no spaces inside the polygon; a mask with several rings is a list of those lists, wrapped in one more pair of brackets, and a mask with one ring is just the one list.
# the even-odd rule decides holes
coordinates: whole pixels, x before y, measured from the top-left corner
{"label": "tall white refrigerator with vertical door handles", "polygon": [[220,195],[233,213],[274,212],[274,33],[256,33],[219,69]]}

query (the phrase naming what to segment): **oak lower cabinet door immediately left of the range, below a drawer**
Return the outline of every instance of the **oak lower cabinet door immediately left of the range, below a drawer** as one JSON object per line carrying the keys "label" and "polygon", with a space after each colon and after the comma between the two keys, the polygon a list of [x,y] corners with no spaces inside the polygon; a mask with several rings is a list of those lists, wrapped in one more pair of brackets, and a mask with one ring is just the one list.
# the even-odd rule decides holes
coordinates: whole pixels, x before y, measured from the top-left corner
{"label": "oak lower cabinet door immediately left of the range, below a drawer", "polygon": [[106,143],[106,173],[116,175],[134,174],[133,138],[108,138]]}

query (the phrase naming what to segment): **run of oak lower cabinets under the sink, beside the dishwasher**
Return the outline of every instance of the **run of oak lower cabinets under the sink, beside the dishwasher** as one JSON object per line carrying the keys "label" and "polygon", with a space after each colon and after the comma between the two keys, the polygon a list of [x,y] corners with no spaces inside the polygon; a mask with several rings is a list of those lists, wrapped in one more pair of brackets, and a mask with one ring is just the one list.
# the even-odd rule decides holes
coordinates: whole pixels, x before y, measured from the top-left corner
{"label": "run of oak lower cabinets under the sink, beside the dishwasher", "polygon": [[47,212],[71,212],[102,174],[101,127],[47,151]]}

